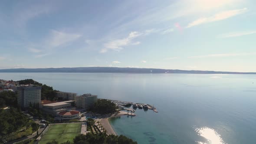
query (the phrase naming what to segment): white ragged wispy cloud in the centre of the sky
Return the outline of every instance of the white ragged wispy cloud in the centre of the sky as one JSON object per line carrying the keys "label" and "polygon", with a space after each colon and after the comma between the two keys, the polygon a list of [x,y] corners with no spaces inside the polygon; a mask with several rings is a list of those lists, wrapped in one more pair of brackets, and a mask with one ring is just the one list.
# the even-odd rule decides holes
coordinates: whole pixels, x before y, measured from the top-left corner
{"label": "white ragged wispy cloud in the centre of the sky", "polygon": [[140,42],[133,42],[132,39],[135,39],[141,35],[142,35],[142,33],[139,33],[136,31],[131,32],[131,33],[129,33],[128,37],[126,37],[124,39],[115,39],[115,40],[105,43],[104,44],[105,48],[101,49],[100,52],[102,52],[102,53],[107,52],[108,49],[120,51],[121,49],[123,49],[123,46],[138,45],[138,44],[140,44]]}

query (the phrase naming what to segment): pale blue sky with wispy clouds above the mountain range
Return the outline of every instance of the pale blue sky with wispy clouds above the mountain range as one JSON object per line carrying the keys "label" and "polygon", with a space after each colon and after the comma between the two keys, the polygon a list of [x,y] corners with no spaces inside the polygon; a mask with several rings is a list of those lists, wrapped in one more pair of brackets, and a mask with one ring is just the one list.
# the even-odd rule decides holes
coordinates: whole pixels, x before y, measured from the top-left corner
{"label": "pale blue sky with wispy clouds above the mountain range", "polygon": [[256,0],[2,0],[0,69],[256,72]]}

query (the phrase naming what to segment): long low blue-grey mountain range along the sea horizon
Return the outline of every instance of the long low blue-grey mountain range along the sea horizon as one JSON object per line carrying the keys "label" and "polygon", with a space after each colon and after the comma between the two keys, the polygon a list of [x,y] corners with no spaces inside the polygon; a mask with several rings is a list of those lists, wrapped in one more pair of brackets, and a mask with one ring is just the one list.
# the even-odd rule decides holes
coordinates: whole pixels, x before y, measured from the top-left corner
{"label": "long low blue-grey mountain range along the sea horizon", "polygon": [[256,74],[256,72],[216,72],[179,69],[148,69],[119,67],[77,67],[40,69],[0,69],[0,72],[95,72],[95,73],[194,73],[194,74]]}

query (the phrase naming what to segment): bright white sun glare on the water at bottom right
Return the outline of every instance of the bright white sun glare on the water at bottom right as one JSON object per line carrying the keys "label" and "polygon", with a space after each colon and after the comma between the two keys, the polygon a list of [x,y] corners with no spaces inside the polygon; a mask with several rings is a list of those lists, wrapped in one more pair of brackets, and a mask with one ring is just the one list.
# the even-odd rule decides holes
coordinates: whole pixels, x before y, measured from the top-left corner
{"label": "bright white sun glare on the water at bottom right", "polygon": [[197,141],[198,144],[226,144],[223,142],[221,135],[218,134],[214,129],[202,127],[197,128],[195,131],[198,135],[207,139],[208,142]]}

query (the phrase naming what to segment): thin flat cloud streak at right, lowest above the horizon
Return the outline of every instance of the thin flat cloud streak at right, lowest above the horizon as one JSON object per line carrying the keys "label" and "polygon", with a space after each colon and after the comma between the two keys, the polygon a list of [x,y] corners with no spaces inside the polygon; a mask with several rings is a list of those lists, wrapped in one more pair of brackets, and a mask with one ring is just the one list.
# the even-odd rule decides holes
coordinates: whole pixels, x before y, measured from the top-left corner
{"label": "thin flat cloud streak at right, lowest above the horizon", "polygon": [[253,56],[256,55],[256,52],[252,53],[223,53],[223,54],[211,54],[211,55],[202,55],[202,56],[189,56],[187,58],[210,58],[210,57],[229,57],[229,56]]}

